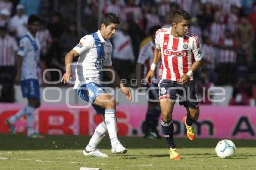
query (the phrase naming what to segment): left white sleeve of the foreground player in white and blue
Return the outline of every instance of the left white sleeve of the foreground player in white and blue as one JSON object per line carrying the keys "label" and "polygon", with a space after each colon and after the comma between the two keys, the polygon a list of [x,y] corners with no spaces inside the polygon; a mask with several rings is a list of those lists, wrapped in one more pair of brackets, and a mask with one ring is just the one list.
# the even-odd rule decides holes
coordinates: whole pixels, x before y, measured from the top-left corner
{"label": "left white sleeve of the foreground player in white and blue", "polygon": [[79,55],[85,52],[86,50],[89,50],[90,48],[93,47],[94,45],[94,38],[92,35],[86,35],[81,40],[79,43],[76,45],[76,47],[73,48]]}

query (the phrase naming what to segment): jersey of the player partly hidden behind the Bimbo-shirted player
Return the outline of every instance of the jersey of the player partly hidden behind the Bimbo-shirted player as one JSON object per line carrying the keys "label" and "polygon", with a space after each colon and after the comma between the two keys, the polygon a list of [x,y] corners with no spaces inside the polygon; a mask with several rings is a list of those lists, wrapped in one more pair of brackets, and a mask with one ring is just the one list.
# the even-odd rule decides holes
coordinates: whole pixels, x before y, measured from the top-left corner
{"label": "jersey of the player partly hidden behind the Bimbo-shirted player", "polygon": [[[154,50],[155,44],[153,41],[150,41],[148,44],[145,44],[139,52],[139,57],[137,62],[144,65],[143,75],[146,78],[148,71],[150,70],[151,64],[154,58]],[[158,75],[159,75],[159,68],[161,63],[158,63],[157,67],[155,68],[155,76],[151,79],[152,82],[158,83]]]}

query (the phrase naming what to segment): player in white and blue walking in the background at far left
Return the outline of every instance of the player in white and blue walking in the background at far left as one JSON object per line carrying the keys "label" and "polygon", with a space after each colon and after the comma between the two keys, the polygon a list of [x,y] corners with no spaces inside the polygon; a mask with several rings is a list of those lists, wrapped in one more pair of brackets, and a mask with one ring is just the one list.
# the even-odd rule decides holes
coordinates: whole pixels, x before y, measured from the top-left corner
{"label": "player in white and blue walking in the background at far left", "polygon": [[44,138],[33,130],[33,112],[40,106],[40,91],[38,84],[37,68],[38,65],[43,69],[40,61],[40,45],[36,38],[39,28],[39,18],[31,15],[28,18],[28,32],[20,39],[17,75],[15,83],[20,84],[22,95],[28,100],[28,105],[22,108],[17,114],[5,120],[12,135],[15,135],[14,125],[23,115],[27,115],[27,136],[30,138]]}

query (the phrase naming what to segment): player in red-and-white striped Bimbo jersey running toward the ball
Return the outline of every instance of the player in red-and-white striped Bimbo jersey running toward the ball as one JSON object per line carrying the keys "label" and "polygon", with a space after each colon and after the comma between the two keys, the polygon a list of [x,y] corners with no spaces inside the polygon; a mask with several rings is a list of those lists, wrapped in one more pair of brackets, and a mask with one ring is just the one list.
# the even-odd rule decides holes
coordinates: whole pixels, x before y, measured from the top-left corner
{"label": "player in red-and-white striped Bimbo jersey running toward the ball", "polygon": [[159,83],[161,124],[170,159],[174,160],[180,159],[173,142],[172,112],[177,96],[179,95],[180,105],[184,105],[187,110],[183,122],[190,140],[195,139],[192,123],[199,117],[193,73],[201,64],[203,55],[198,36],[188,30],[189,20],[190,16],[185,10],[176,10],[173,13],[172,27],[156,32],[154,60],[146,77],[147,83],[150,83],[155,75],[155,67],[162,58],[163,71]]}

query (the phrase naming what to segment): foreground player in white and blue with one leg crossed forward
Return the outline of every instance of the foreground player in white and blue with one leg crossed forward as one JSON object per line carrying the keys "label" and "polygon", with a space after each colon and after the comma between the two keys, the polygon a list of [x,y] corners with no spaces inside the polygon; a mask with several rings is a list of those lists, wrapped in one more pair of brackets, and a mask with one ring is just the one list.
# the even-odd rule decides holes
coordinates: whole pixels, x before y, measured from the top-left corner
{"label": "foreground player in white and blue with one leg crossed forward", "polygon": [[78,95],[85,101],[90,102],[97,114],[101,114],[103,121],[96,127],[89,144],[83,151],[85,156],[107,157],[105,153],[98,150],[97,145],[108,132],[111,140],[112,153],[126,153],[127,149],[123,147],[117,138],[117,118],[115,115],[115,100],[102,88],[100,83],[100,71],[105,69],[108,77],[121,88],[126,94],[128,100],[132,99],[131,91],[128,90],[118,77],[112,67],[111,53],[112,44],[110,38],[115,34],[119,24],[118,17],[113,13],[106,13],[101,18],[100,30],[81,38],[79,44],[73,48],[65,57],[66,73],[62,77],[62,82],[67,83],[72,78],[71,63],[73,58],[79,56],[76,67],[76,81],[74,89],[77,89]]}

